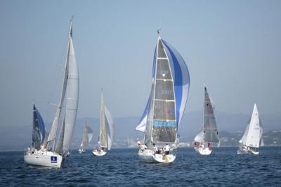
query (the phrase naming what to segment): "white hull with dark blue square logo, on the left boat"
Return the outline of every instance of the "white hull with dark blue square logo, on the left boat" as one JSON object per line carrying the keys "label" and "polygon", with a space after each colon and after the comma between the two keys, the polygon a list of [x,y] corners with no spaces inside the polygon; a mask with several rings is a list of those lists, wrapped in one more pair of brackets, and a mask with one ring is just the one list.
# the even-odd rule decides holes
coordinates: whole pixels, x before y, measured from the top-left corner
{"label": "white hull with dark blue square logo, on the left boat", "polygon": [[32,153],[32,151],[27,151],[23,159],[27,165],[57,168],[60,168],[63,162],[63,157],[58,155],[58,153],[42,150],[34,151],[34,153]]}

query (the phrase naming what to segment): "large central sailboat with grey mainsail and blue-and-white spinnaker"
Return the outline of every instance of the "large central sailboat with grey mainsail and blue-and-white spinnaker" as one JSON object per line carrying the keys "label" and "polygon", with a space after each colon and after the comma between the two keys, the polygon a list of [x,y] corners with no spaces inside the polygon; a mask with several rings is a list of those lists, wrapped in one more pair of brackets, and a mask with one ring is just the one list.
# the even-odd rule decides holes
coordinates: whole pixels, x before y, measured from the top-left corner
{"label": "large central sailboat with grey mainsail and blue-and-white spinnaker", "polygon": [[150,96],[136,127],[143,132],[138,155],[143,162],[169,163],[176,159],[178,127],[188,99],[190,77],[180,53],[157,31]]}

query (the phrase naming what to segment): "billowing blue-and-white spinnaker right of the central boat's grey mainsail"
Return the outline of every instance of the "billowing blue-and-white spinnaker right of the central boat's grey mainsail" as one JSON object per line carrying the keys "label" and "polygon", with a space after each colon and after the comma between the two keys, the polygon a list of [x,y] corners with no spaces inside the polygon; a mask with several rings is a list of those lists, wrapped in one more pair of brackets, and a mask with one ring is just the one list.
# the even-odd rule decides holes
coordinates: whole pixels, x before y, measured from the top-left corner
{"label": "billowing blue-and-white spinnaker right of the central boat's grey mainsail", "polygon": [[[188,97],[189,90],[189,72],[188,67],[185,64],[185,61],[181,57],[181,55],[173,48],[173,46],[169,45],[166,41],[162,40],[164,47],[166,49],[166,53],[168,55],[169,61],[173,67],[171,67],[174,71],[172,71],[174,78],[174,89],[175,89],[175,98],[176,98],[176,123],[181,122],[181,117],[183,115],[185,109],[185,103],[182,101],[186,101]],[[187,75],[185,75],[187,74]],[[188,84],[188,88],[186,90],[183,89],[183,85]],[[186,98],[183,98],[186,97]]]}

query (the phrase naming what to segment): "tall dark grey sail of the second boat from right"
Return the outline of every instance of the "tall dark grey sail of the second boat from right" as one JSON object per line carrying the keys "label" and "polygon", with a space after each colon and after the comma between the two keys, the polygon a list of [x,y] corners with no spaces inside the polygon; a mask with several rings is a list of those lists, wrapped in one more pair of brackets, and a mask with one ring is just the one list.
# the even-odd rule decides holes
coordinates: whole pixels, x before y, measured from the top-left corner
{"label": "tall dark grey sail of the second boat from right", "polygon": [[204,121],[203,121],[203,139],[205,142],[219,143],[218,128],[214,109],[209,97],[206,86],[204,86]]}

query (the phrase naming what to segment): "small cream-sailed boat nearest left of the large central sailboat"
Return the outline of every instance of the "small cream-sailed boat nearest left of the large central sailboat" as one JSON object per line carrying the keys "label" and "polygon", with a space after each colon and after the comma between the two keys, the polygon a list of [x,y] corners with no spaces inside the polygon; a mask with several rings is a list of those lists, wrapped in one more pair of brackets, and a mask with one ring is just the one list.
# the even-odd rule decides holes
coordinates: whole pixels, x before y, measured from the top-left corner
{"label": "small cream-sailed boat nearest left of the large central sailboat", "polygon": [[103,93],[101,93],[101,105],[100,105],[100,135],[98,140],[98,146],[93,150],[93,155],[103,156],[111,149],[114,136],[114,124],[110,110],[105,106]]}

